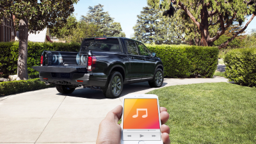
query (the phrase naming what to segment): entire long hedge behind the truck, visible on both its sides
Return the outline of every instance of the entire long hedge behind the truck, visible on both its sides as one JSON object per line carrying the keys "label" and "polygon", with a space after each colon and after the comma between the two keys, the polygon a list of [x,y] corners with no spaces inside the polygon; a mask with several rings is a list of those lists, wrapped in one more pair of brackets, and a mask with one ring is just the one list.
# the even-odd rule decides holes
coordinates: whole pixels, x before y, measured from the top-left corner
{"label": "entire long hedge behind the truck, visible on both its sides", "polygon": [[[147,45],[164,63],[164,76],[212,77],[217,68],[218,48],[190,45]],[[79,43],[28,43],[28,73],[40,64],[43,51],[75,51]],[[0,72],[3,77],[17,74],[19,42],[0,42]],[[37,77],[36,75],[31,77]]]}

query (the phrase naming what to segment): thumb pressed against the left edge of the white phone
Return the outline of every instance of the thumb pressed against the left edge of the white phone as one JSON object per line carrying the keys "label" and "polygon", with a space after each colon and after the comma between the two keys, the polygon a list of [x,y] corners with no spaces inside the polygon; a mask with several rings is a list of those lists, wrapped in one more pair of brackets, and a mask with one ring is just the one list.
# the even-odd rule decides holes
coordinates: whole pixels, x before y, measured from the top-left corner
{"label": "thumb pressed against the left edge of the white phone", "polygon": [[121,105],[116,106],[115,109],[108,112],[105,120],[110,120],[110,121],[115,120],[117,124],[118,120],[120,120],[120,118],[122,117],[122,113],[123,113],[123,107]]}

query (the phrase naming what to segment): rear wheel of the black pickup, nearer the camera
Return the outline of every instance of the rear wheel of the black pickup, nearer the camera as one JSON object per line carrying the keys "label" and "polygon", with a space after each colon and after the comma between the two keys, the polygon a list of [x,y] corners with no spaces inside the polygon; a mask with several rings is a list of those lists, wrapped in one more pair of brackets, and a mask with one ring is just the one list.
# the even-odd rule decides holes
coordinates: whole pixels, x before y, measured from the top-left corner
{"label": "rear wheel of the black pickup, nearer the camera", "polygon": [[110,99],[115,99],[120,97],[122,91],[123,91],[123,77],[120,72],[111,72],[108,80],[108,85],[106,88],[103,88],[102,91],[105,95],[105,97]]}

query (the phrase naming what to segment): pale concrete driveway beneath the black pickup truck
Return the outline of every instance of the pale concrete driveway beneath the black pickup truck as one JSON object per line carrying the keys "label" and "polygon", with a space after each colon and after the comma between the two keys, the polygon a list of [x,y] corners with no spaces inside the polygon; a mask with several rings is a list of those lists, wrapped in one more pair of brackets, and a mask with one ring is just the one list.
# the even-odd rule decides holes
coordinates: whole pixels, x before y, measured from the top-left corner
{"label": "pale concrete driveway beneath the black pickup truck", "polygon": [[[163,86],[216,82],[227,79],[164,79]],[[128,84],[122,96],[154,89],[147,82]],[[0,97],[0,143],[95,143],[101,120],[122,101],[89,88],[70,95],[47,88]]]}

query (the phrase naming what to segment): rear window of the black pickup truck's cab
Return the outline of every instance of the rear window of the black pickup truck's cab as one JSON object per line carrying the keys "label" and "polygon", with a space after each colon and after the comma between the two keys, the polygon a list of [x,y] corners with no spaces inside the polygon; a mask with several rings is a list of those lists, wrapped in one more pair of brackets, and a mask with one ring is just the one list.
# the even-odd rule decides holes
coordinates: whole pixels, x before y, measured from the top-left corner
{"label": "rear window of the black pickup truck's cab", "polygon": [[82,42],[81,51],[121,52],[121,49],[117,38],[92,38]]}

